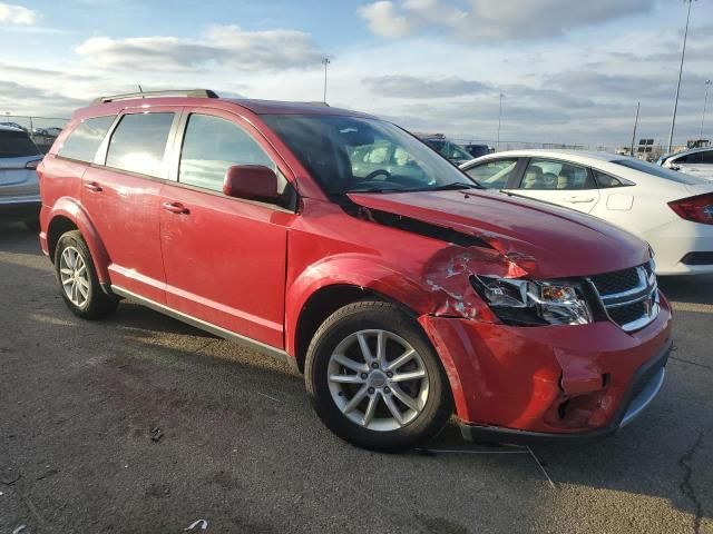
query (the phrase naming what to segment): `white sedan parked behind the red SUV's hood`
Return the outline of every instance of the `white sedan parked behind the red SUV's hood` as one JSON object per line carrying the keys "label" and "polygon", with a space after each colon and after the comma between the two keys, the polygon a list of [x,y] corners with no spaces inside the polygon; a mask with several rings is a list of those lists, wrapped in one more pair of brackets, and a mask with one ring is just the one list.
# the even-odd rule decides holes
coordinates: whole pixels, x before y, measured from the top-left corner
{"label": "white sedan parked behind the red SUV's hood", "polygon": [[713,273],[713,182],[606,152],[512,150],[460,168],[500,189],[599,217],[647,240],[658,275]]}

